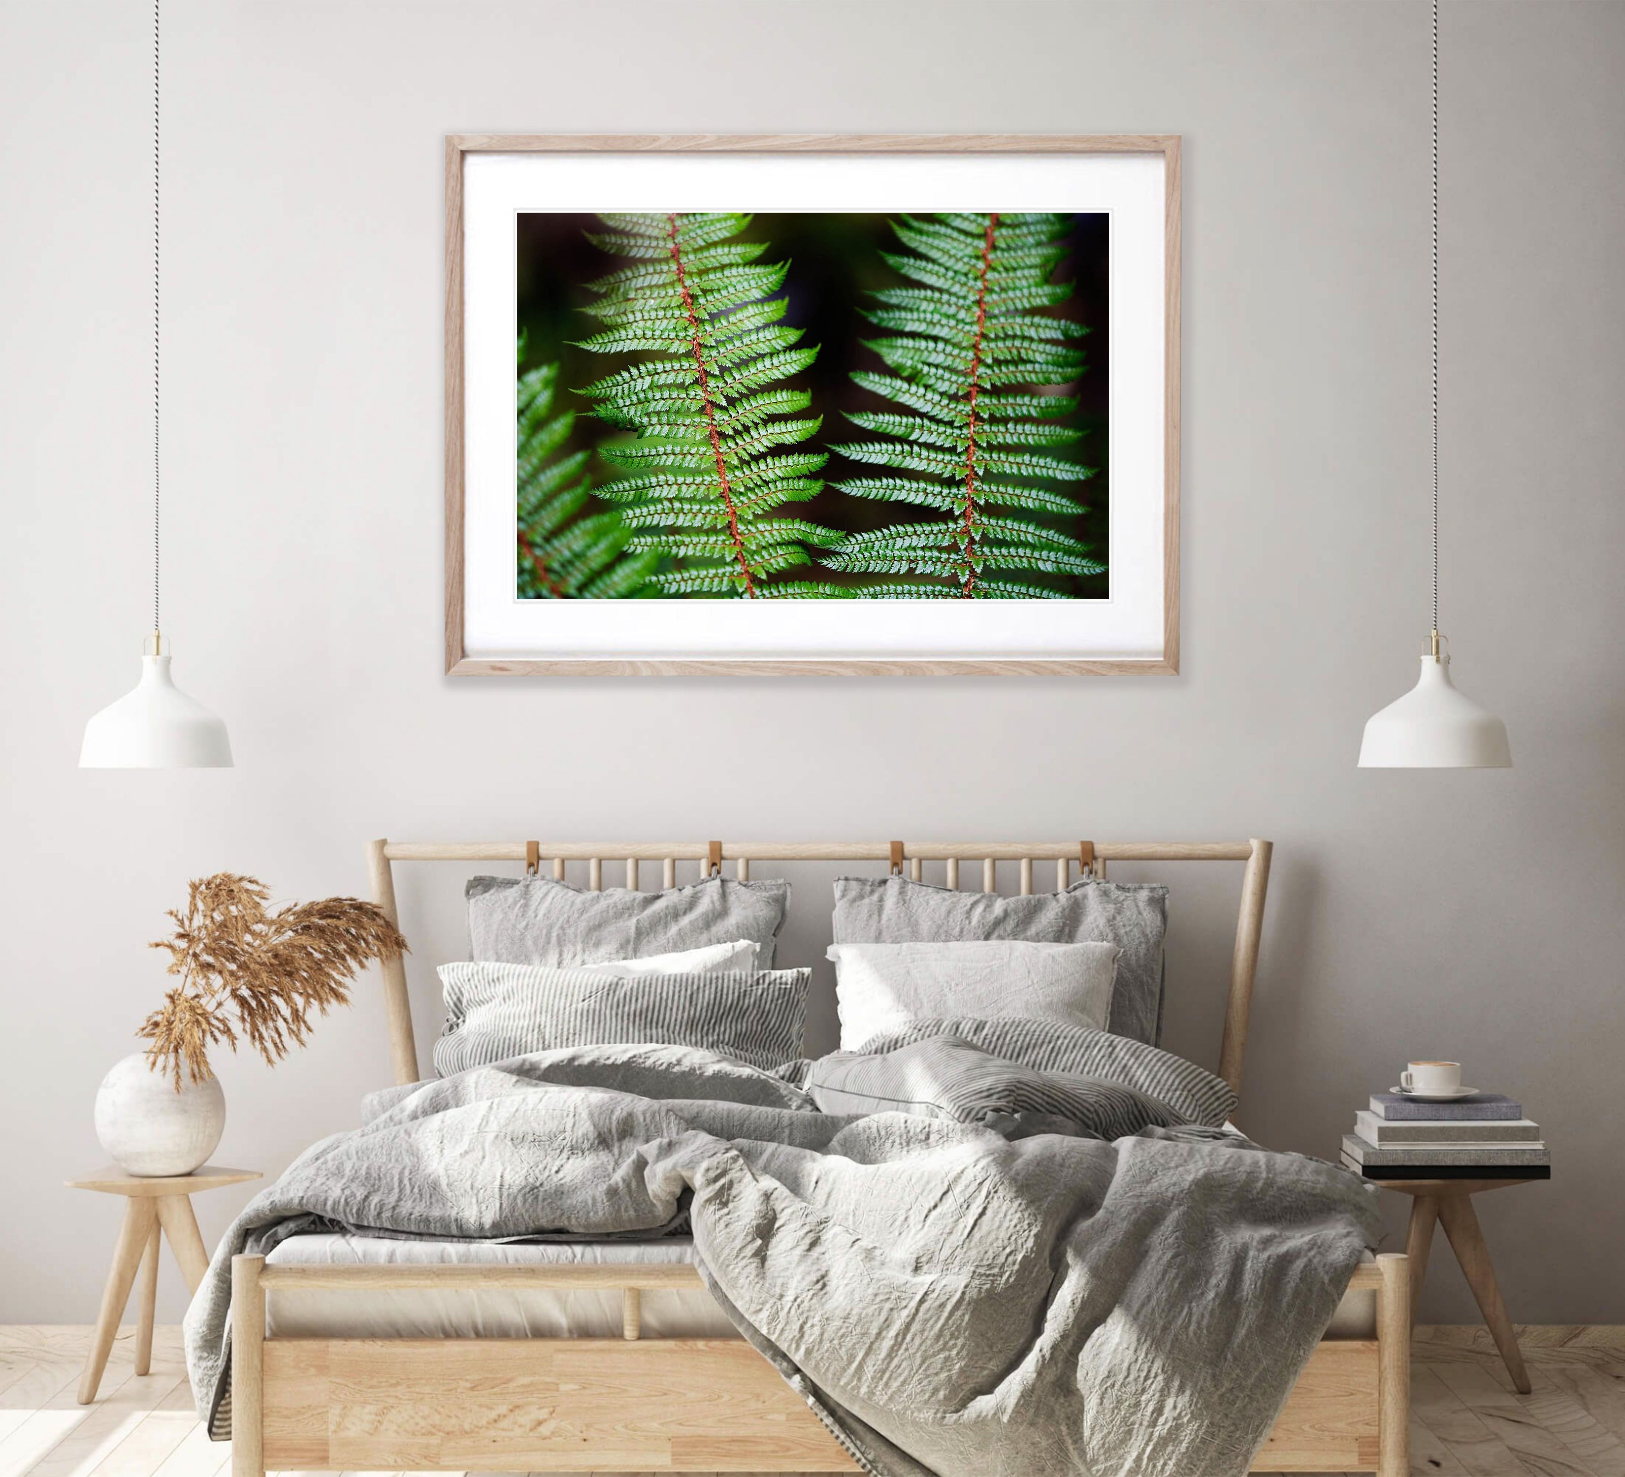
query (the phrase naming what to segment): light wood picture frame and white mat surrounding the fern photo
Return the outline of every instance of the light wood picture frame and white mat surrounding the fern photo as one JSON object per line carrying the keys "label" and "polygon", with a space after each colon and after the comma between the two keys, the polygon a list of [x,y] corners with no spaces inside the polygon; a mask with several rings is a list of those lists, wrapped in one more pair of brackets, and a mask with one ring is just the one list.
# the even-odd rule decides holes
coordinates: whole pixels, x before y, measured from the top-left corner
{"label": "light wood picture frame and white mat surrounding the fern photo", "polygon": [[[445,671],[452,676],[1178,673],[1180,187],[1178,135],[448,136]],[[990,200],[990,192],[999,198]],[[1108,336],[1102,331],[1110,356],[1110,369],[1102,364],[1102,370],[1110,374],[1112,427],[1110,557],[1107,551],[1098,556],[1108,582],[1103,596],[749,603],[522,598],[523,577],[514,572],[515,221],[523,234],[526,218],[548,219],[549,213],[574,223],[587,218],[583,213],[648,211],[665,205],[682,206],[682,214],[668,216],[671,221],[752,206],[772,219],[772,211],[800,210],[803,200],[827,205],[824,214],[868,210],[874,218],[900,218],[942,205],[968,210],[968,201],[977,200],[1009,210],[1046,205],[1079,211],[1079,219],[1098,214],[1108,221],[1102,239],[1110,237],[1110,297],[1098,323],[1100,330],[1110,328]],[[622,219],[650,216],[622,214]],[[603,258],[603,270],[616,266],[626,262]],[[582,315],[582,340],[601,328]],[[626,362],[622,354],[604,372]],[[574,380],[561,382],[561,395],[574,396],[580,388]],[[590,411],[593,405],[577,396],[574,408]],[[829,429],[837,440],[853,439],[845,424]],[[523,541],[520,548],[525,549]],[[1048,583],[1068,588],[1066,575]],[[882,585],[874,582],[874,588]],[[648,591],[655,587],[645,587]]]}

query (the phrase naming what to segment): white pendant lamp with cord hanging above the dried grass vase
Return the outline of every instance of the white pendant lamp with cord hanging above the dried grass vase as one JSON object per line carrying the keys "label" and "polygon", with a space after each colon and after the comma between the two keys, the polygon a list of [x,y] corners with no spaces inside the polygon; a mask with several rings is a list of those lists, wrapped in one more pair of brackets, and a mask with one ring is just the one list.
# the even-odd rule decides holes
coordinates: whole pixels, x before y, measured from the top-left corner
{"label": "white pendant lamp with cord hanging above the dried grass vase", "polygon": [[159,630],[159,257],[158,257],[158,119],[159,29],[153,0],[153,634],[141,650],[141,681],[84,725],[80,769],[229,769],[226,725],[182,692],[169,674],[169,643]]}

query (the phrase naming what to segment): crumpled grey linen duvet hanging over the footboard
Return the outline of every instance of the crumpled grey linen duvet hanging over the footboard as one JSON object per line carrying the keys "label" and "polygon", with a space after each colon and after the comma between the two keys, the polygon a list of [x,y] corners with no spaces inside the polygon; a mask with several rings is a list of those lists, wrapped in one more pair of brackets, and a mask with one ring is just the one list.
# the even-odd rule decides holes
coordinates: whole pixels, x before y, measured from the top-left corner
{"label": "crumpled grey linen duvet hanging over the footboard", "polygon": [[231,1258],[336,1227],[656,1237],[879,1477],[1240,1477],[1375,1240],[1352,1175],[1212,1129],[1103,1142],[840,1118],[678,1046],[546,1051],[377,1095],[216,1250],[187,1315],[229,1435]]}

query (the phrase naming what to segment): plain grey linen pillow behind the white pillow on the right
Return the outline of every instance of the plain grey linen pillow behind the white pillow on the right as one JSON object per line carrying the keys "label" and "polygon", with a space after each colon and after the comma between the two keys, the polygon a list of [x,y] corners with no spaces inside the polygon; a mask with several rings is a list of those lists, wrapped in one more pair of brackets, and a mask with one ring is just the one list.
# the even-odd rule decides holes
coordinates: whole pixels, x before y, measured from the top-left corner
{"label": "plain grey linen pillow behind the white pillow on the right", "polygon": [[[1025,939],[1030,944],[1116,944],[1116,986],[1107,1030],[1136,1042],[1162,1035],[1162,936],[1168,889],[1160,882],[1074,882],[1066,892],[998,897],[910,882],[840,877],[837,944],[930,944]],[[988,1001],[990,1012],[998,1001]]]}

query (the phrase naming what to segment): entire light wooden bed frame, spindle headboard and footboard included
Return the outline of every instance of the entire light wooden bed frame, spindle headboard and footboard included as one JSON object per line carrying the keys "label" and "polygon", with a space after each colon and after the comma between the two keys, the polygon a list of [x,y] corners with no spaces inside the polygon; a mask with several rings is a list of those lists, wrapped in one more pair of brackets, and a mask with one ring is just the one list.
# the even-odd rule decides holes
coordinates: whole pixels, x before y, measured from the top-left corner
{"label": "entire light wooden bed frame, spindle headboard and footboard included", "polygon": [[[398,921],[395,861],[543,861],[564,877],[585,861],[588,884],[603,864],[660,863],[676,886],[678,863],[700,876],[733,861],[748,879],[752,861],[882,863],[916,881],[926,861],[982,863],[982,887],[996,890],[998,864],[1019,866],[1032,892],[1037,863],[1055,863],[1066,887],[1071,864],[1105,876],[1113,861],[1240,861],[1237,920],[1219,1074],[1240,1090],[1253,975],[1269,884],[1269,842],[1238,843],[652,843],[561,845],[499,842],[411,845],[372,842],[367,861],[379,905]],[[384,999],[396,1082],[416,1082],[403,960],[384,967]],[[743,1339],[640,1339],[639,1298],[647,1289],[697,1287],[689,1266],[265,1266],[232,1259],[232,1474],[297,1471],[500,1472],[855,1472],[856,1464],[822,1422]],[[393,1289],[616,1289],[621,1339],[297,1339],[265,1336],[265,1297],[301,1290]],[[1264,1472],[1372,1472],[1409,1477],[1410,1279],[1404,1256],[1362,1264],[1352,1289],[1376,1295],[1375,1339],[1326,1339],[1256,1461]],[[1245,1378],[1245,1376],[1243,1376]]]}

